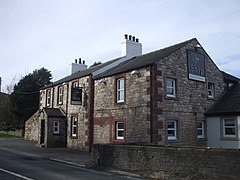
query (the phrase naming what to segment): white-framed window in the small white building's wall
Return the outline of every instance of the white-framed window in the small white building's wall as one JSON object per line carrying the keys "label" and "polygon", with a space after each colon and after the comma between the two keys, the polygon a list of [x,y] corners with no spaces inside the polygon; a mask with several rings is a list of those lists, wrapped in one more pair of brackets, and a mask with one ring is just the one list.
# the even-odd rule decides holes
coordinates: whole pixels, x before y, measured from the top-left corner
{"label": "white-framed window in the small white building's wall", "polygon": [[236,137],[236,119],[225,118],[223,119],[223,136],[224,137]]}

